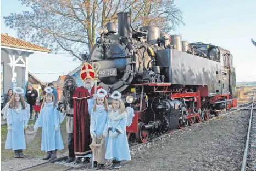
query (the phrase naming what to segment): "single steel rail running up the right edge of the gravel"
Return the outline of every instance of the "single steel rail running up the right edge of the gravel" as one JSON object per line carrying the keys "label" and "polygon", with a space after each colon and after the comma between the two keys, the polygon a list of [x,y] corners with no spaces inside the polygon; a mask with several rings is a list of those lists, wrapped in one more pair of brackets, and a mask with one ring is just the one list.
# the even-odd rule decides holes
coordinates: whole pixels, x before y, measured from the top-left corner
{"label": "single steel rail running up the right edge of the gravel", "polygon": [[250,133],[251,133],[254,101],[255,101],[255,91],[253,92],[252,109],[251,109],[251,114],[250,114],[250,120],[249,120],[248,132],[247,132],[247,139],[246,139],[246,147],[244,149],[241,171],[246,170],[246,161],[247,161],[247,156],[248,156],[248,147],[249,147],[249,139],[250,139]]}

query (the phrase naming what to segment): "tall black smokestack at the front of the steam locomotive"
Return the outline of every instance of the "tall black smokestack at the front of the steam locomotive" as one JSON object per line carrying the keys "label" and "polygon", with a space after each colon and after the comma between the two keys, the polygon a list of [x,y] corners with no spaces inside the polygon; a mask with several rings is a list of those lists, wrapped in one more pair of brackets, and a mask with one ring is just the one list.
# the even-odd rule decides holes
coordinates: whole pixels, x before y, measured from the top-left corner
{"label": "tall black smokestack at the front of the steam locomotive", "polygon": [[118,34],[120,36],[132,37],[129,13],[118,13]]}

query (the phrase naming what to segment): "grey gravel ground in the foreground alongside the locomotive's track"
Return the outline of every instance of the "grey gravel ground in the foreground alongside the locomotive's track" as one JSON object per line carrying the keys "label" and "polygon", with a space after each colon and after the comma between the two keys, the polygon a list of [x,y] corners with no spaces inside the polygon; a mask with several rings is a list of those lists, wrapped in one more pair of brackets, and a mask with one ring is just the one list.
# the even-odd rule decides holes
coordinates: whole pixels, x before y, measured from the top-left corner
{"label": "grey gravel ground in the foreground alongside the locomotive's track", "polygon": [[[119,170],[240,170],[248,118],[249,111],[239,111],[133,148],[132,160],[122,162]],[[20,170],[42,162],[13,158],[1,161],[1,169]]]}

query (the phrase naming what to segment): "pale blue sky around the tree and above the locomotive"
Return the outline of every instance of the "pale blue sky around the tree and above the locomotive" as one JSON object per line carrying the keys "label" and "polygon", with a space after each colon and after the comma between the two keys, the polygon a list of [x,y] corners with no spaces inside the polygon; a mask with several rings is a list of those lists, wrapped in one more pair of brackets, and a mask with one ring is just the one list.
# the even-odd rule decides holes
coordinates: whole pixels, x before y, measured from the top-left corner
{"label": "pale blue sky around the tree and above the locomotive", "polygon": [[[185,25],[169,34],[180,34],[182,40],[190,43],[212,43],[229,50],[237,82],[256,81],[256,46],[251,43],[251,38],[256,40],[255,0],[175,0],[174,3],[183,11]],[[22,10],[29,7],[18,0],[1,0],[1,33],[17,37],[16,31],[5,26],[3,16]],[[66,75],[81,64],[71,62],[73,58],[67,54],[32,54],[29,72],[44,82],[56,81],[59,75]]]}

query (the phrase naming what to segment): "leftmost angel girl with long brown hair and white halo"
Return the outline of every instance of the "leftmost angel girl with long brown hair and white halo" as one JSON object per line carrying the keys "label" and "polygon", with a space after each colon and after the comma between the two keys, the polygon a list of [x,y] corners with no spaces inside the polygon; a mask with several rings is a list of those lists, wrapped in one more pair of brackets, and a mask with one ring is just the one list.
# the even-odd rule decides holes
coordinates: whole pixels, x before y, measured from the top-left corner
{"label": "leftmost angel girl with long brown hair and white halo", "polygon": [[13,95],[7,104],[7,138],[5,149],[13,149],[15,158],[23,158],[23,150],[26,149],[24,130],[30,117],[30,106],[24,101],[24,90],[15,87]]}

